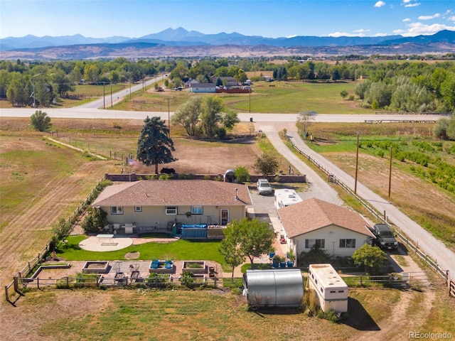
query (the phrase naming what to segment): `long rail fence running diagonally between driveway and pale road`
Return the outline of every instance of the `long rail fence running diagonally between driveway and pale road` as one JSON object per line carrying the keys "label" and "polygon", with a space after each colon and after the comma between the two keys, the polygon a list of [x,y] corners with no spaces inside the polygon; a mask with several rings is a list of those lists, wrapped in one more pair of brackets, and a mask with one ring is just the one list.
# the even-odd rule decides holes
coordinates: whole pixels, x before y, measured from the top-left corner
{"label": "long rail fence running diagonally between driveway and pale road", "polygon": [[[316,161],[314,158],[312,158],[308,153],[305,153],[304,151],[301,151],[300,148],[298,146],[296,146],[292,141],[289,141],[289,142],[291,143],[291,145],[294,148],[296,148],[296,151],[298,151],[302,156],[304,156],[309,161],[311,161],[311,163],[313,163],[316,167],[321,169],[321,171],[326,173],[328,175],[329,182],[336,183],[337,185],[340,185],[341,188],[343,188],[343,190],[345,190],[347,193],[349,193],[349,195],[355,197],[355,199],[358,200],[360,202],[360,204],[363,205],[363,207],[365,207],[368,210],[368,212],[370,212],[374,217],[376,217],[382,223],[387,224],[389,227],[391,227],[389,222],[387,222],[386,217],[381,215],[377,210],[375,210],[374,207],[370,206],[368,204],[368,202],[363,200],[362,197],[359,197],[357,194],[355,194],[353,192],[353,190],[351,190],[348,187],[348,185],[346,185],[341,180],[336,178],[335,175],[333,175],[331,172],[329,172],[325,167],[323,167],[318,161]],[[400,239],[402,239],[402,242],[407,244],[408,247],[410,247],[415,252],[415,254],[417,254],[427,265],[429,265],[430,268],[432,268],[434,271],[436,271],[436,273],[439,274],[439,276],[444,278],[446,283],[449,285],[449,271],[441,269],[441,267],[437,264],[437,261],[434,261],[433,259],[431,259],[431,257],[429,257],[427,254],[425,254],[421,249],[419,249],[418,244],[415,244],[410,239],[405,237],[405,235],[402,234],[400,231],[397,231],[396,228],[395,228],[395,232],[397,232],[398,237],[400,237]]]}

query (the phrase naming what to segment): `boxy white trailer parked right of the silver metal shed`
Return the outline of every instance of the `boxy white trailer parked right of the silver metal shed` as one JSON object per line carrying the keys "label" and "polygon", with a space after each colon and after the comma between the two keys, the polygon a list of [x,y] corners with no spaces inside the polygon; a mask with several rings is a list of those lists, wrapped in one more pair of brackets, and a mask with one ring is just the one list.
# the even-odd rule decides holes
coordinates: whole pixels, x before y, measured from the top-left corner
{"label": "boxy white trailer parked right of the silver metal shed", "polygon": [[348,286],[331,264],[311,264],[308,275],[309,287],[316,292],[324,313],[348,311]]}

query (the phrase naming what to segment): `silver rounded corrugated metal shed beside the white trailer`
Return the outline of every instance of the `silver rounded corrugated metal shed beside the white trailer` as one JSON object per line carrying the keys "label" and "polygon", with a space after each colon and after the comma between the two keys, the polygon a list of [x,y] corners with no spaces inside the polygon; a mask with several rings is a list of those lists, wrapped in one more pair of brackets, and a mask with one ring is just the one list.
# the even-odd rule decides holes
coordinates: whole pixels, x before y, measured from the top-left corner
{"label": "silver rounded corrugated metal shed beside the white trailer", "polygon": [[299,269],[247,270],[243,295],[255,307],[299,307],[304,279]]}

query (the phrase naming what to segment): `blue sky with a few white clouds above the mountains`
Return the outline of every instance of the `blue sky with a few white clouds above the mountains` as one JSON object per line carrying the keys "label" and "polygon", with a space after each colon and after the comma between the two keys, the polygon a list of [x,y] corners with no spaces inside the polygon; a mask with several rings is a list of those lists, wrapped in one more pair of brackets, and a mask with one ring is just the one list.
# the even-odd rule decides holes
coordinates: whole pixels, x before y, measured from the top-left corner
{"label": "blue sky with a few white clouds above the mountains", "polygon": [[0,0],[0,38],[139,38],[166,28],[269,38],[455,31],[450,0]]}

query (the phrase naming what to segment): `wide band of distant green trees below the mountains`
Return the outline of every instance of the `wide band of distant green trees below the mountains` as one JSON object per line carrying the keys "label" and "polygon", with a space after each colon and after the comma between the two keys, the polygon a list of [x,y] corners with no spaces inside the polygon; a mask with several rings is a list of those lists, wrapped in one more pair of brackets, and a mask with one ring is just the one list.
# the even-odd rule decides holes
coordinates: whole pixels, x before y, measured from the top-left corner
{"label": "wide band of distant green trees below the mountains", "polygon": [[[439,58],[439,60],[436,60]],[[279,63],[277,63],[279,59]],[[444,59],[444,60],[441,60]],[[164,58],[160,60],[58,60],[0,62],[0,96],[16,106],[48,106],[74,92],[77,84],[138,82],[160,72],[166,86],[188,80],[222,82],[232,77],[245,82],[246,72],[272,71],[276,81],[337,82],[363,80],[355,94],[365,107],[404,112],[451,112],[455,108],[455,54],[444,56],[361,56],[311,58]],[[351,63],[352,61],[355,63]],[[217,77],[214,77],[217,76]]]}

